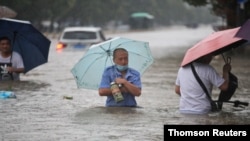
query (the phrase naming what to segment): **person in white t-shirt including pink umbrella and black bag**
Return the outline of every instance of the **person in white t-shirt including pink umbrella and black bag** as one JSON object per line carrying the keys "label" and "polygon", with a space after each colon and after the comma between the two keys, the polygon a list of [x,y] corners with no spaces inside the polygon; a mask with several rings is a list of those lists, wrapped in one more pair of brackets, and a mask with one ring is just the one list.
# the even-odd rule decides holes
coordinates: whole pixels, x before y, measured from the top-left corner
{"label": "person in white t-shirt including pink umbrella and black bag", "polygon": [[[229,102],[238,82],[231,73],[231,58],[225,59],[223,53],[246,43],[235,37],[239,30],[236,27],[214,32],[186,51],[175,82],[175,92],[181,96],[181,113],[206,114],[213,109],[221,110],[222,103]],[[225,61],[222,76],[210,65],[213,56],[219,54]],[[221,90],[218,101],[212,99],[213,87]]]}

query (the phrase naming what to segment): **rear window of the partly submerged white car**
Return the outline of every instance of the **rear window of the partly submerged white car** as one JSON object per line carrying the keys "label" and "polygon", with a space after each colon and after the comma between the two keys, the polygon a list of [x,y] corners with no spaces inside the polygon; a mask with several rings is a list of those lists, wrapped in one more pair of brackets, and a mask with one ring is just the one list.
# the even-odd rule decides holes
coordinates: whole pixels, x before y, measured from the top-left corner
{"label": "rear window of the partly submerged white car", "polygon": [[96,39],[95,32],[86,31],[70,31],[66,32],[63,36],[64,39]]}

